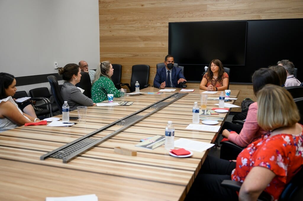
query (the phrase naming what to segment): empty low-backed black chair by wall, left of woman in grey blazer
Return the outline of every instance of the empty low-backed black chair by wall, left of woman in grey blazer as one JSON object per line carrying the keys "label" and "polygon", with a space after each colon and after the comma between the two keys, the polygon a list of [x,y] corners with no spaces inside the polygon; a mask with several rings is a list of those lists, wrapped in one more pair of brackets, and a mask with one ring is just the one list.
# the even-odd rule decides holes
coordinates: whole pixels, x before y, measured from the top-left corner
{"label": "empty low-backed black chair by wall, left of woman in grey blazer", "polygon": [[[49,93],[49,90],[47,87],[40,87],[40,88],[35,88],[29,90],[29,94],[33,98],[46,98],[48,102],[50,102],[51,94]],[[57,112],[59,111],[57,104],[54,102],[50,102],[51,104],[51,111],[52,112]],[[47,104],[39,105],[39,108],[42,109],[49,109]],[[52,114],[51,114],[52,115]]]}

